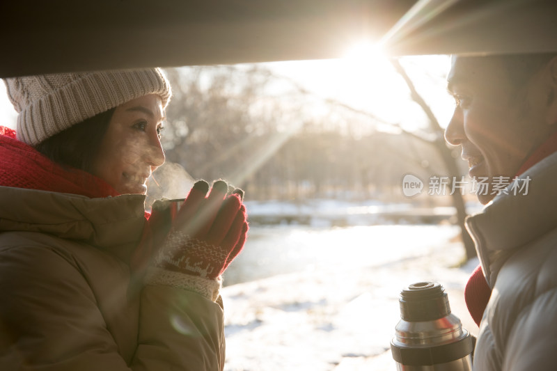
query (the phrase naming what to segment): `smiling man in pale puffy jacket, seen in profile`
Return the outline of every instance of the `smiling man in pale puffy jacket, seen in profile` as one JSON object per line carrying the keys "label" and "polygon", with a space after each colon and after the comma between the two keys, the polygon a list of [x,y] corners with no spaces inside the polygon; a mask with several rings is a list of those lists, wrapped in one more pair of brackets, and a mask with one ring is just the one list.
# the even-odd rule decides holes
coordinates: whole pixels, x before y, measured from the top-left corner
{"label": "smiling man in pale puffy jacket, seen in profile", "polygon": [[[474,369],[554,370],[557,54],[455,56],[448,90],[456,107],[446,140],[489,184],[478,194],[483,212],[466,221],[481,265],[466,285],[480,325]],[[495,189],[502,180],[509,187]]]}

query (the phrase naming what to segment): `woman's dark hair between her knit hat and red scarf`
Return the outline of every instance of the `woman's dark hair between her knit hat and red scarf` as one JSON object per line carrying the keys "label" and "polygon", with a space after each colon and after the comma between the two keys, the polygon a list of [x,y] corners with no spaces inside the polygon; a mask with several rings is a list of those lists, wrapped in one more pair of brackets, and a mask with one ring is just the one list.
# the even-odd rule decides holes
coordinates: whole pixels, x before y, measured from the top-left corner
{"label": "woman's dark hair between her knit hat and red scarf", "polygon": [[113,113],[114,109],[109,109],[81,121],[38,143],[35,149],[57,164],[91,173]]}

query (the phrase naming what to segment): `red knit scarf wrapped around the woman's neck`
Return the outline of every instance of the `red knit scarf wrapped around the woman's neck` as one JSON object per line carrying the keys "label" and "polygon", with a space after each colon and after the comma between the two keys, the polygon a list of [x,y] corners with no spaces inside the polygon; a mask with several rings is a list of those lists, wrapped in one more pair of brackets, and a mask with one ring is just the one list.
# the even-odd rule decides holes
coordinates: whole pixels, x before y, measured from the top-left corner
{"label": "red knit scarf wrapped around the woman's neck", "polygon": [[15,139],[15,130],[0,126],[0,186],[38,189],[89,198],[118,196],[104,180],[63,167]]}

